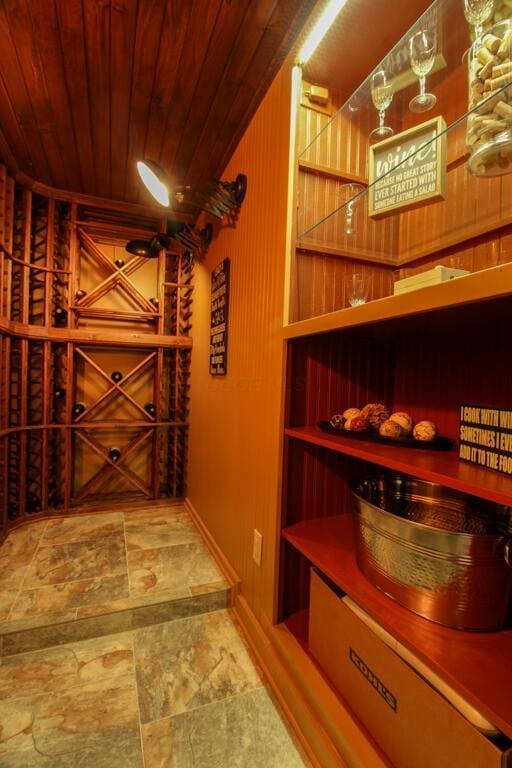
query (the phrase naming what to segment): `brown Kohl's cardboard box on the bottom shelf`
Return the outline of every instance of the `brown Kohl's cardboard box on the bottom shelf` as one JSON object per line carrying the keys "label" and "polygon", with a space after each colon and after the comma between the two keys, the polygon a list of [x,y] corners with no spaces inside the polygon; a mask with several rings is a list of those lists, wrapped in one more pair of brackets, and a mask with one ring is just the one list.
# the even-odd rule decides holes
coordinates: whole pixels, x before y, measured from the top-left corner
{"label": "brown Kohl's cardboard box on the bottom shelf", "polygon": [[504,751],[311,572],[309,648],[396,768],[512,768]]}

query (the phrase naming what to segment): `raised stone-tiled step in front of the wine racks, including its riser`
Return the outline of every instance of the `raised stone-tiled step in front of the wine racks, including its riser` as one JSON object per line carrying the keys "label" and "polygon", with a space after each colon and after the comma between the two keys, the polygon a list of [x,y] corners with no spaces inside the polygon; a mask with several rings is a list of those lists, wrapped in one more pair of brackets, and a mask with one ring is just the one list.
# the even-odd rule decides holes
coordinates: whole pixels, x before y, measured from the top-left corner
{"label": "raised stone-tiled step in front of the wine racks, including its riser", "polygon": [[229,600],[181,506],[34,523],[0,548],[0,655],[208,613]]}

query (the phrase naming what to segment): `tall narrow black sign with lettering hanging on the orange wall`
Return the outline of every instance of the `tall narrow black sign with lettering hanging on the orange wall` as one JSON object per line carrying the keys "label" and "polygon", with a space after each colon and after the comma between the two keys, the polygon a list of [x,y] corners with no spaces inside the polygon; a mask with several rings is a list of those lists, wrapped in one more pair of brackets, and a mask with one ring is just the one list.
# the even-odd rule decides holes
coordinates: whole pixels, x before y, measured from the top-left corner
{"label": "tall narrow black sign with lettering hanging on the orange wall", "polygon": [[212,272],[210,304],[210,373],[224,376],[228,367],[229,259]]}

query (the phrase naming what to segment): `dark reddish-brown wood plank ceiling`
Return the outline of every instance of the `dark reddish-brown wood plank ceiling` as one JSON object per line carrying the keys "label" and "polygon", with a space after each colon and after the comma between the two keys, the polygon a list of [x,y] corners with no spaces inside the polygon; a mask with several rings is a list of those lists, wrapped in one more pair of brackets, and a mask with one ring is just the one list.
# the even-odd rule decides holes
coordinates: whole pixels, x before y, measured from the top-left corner
{"label": "dark reddish-brown wood plank ceiling", "polygon": [[218,178],[315,4],[3,0],[0,153],[125,202],[150,202],[143,157],[175,183]]}

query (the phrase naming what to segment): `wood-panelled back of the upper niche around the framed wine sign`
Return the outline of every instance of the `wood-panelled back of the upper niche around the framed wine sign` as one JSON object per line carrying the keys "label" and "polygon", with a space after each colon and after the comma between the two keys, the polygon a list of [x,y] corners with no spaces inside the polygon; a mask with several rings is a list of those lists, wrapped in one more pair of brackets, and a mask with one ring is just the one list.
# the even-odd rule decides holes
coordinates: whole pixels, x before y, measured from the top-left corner
{"label": "wood-panelled back of the upper niche around the framed wine sign", "polygon": [[[512,19],[512,7],[498,2],[494,14],[488,29],[505,15]],[[419,93],[419,84],[411,69],[409,40],[419,30],[436,33],[436,54],[426,90],[437,101],[430,111],[414,113],[409,103]],[[512,260],[508,240],[492,235],[512,223],[512,173],[473,175],[467,168],[466,147],[468,118],[480,118],[486,104],[490,111],[497,94],[511,102],[512,72],[491,96],[468,109],[467,68],[473,37],[462,0],[437,0],[341,109],[330,119],[318,120],[324,125],[314,139],[306,138],[310,135],[304,127],[306,119],[299,118],[299,147],[301,141],[307,145],[298,156],[298,235],[291,322],[347,307],[347,283],[356,272],[371,279],[368,300],[373,300],[392,295],[395,280],[438,264],[474,272]],[[445,126],[430,141],[439,147],[441,141],[445,143],[446,186],[442,199],[376,216],[369,212],[371,193],[375,196],[386,179],[397,172],[402,172],[406,180],[408,167],[428,146],[422,141],[402,158],[397,150],[393,167],[382,164],[380,170],[376,168],[372,185],[368,186],[370,134],[378,122],[371,79],[382,69],[393,86],[385,124],[393,127],[395,136],[434,118],[444,120]],[[512,120],[508,130],[512,130]]]}

